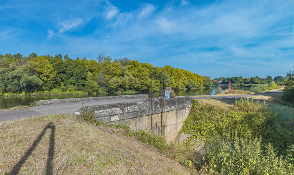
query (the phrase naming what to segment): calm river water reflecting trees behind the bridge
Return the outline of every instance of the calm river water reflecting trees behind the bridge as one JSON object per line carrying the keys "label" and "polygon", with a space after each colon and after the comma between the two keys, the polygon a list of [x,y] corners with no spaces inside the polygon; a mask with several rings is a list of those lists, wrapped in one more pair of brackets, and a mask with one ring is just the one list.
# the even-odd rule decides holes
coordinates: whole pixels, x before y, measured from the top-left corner
{"label": "calm river water reflecting trees behind the bridge", "polygon": [[[227,89],[227,86],[220,86],[222,90]],[[238,89],[239,87],[231,87]],[[214,95],[217,86],[205,89],[191,89],[191,90],[175,90],[176,96],[193,96],[193,95]],[[248,90],[248,87],[240,87],[240,90]],[[147,94],[147,92],[139,93],[125,93],[125,94],[97,94],[97,95],[52,95],[52,96],[27,96],[27,97],[0,97],[0,108],[12,108],[19,105],[28,105],[34,100],[50,100],[61,98],[82,98],[82,97],[95,97],[95,96],[114,96],[114,95],[134,95],[134,94]],[[159,92],[154,92],[154,96],[158,97]]]}

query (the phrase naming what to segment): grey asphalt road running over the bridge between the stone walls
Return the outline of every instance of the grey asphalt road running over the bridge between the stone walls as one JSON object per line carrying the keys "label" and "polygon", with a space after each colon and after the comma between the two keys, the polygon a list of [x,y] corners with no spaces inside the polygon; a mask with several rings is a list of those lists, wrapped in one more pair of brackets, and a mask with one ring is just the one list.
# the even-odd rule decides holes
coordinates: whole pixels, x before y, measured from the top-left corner
{"label": "grey asphalt road running over the bridge between the stone walls", "polygon": [[[142,101],[142,98],[86,101],[84,102],[83,106],[107,105],[107,104],[136,102],[136,101]],[[65,104],[54,104],[54,105],[40,105],[40,106],[32,107],[30,109],[15,110],[15,111],[2,111],[0,112],[0,121],[7,121],[7,120],[41,116],[41,115],[69,114],[69,113],[74,113],[81,107],[82,107],[82,102],[77,102],[77,103],[65,103]]]}

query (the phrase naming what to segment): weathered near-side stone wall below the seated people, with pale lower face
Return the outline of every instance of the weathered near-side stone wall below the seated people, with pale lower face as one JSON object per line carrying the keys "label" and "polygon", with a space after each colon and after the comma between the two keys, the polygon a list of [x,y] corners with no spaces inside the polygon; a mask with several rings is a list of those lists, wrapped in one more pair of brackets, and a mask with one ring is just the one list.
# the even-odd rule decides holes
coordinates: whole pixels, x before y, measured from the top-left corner
{"label": "weathered near-side stone wall below the seated people, with pale lower face", "polygon": [[86,106],[79,109],[76,114],[79,115],[83,111],[93,113],[96,121],[111,124],[127,123],[132,129],[152,130],[155,133],[160,133],[161,129],[163,129],[167,143],[171,143],[182,129],[184,120],[189,114],[192,100],[192,97],[164,99],[162,128],[160,100],[154,100],[153,111],[151,111],[149,101],[138,101],[112,105]]}

